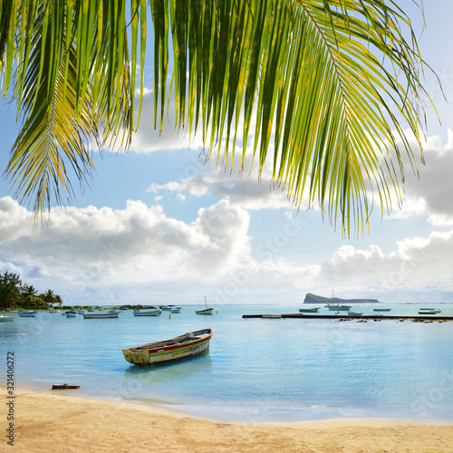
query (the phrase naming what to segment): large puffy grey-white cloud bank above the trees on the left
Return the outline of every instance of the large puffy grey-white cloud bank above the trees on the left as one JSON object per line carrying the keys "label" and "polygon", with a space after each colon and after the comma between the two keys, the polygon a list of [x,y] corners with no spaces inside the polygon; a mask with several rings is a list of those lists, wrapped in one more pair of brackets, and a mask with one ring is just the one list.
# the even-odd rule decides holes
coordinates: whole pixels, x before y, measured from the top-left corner
{"label": "large puffy grey-white cloud bank above the trees on the left", "polygon": [[[46,277],[55,289],[215,281],[249,252],[249,216],[227,200],[200,209],[192,223],[162,207],[58,209],[40,226],[9,197],[0,199],[0,266]],[[32,272],[33,270],[33,272]],[[13,271],[11,271],[13,272]],[[38,284],[36,284],[38,286]]]}

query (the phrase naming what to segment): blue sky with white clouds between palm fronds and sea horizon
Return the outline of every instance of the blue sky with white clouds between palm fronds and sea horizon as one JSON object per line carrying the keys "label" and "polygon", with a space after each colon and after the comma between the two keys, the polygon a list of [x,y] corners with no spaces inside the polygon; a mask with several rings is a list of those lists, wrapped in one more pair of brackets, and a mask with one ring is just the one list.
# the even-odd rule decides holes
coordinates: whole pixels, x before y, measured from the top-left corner
{"label": "blue sky with white clouds between palm fronds and sea horizon", "polygon": [[[127,153],[93,152],[89,187],[34,225],[33,209],[0,181],[0,273],[13,272],[64,304],[302,304],[306,293],[383,303],[453,300],[453,3],[399,2],[437,72],[424,86],[425,165],[407,170],[402,207],[376,208],[370,232],[347,238],[317,208],[298,209],[268,172],[206,161],[198,140],[150,126],[150,67],[140,129]],[[445,98],[444,98],[445,96]],[[171,115],[170,115],[171,117]],[[149,122],[147,123],[147,120]],[[17,134],[0,107],[0,168]],[[414,146],[414,149],[415,146]],[[417,150],[415,152],[418,152]]]}

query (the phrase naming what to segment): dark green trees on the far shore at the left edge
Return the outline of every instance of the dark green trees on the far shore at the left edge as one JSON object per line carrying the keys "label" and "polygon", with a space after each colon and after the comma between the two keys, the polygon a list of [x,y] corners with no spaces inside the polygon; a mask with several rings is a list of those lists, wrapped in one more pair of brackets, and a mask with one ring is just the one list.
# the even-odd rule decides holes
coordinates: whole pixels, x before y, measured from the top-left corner
{"label": "dark green trees on the far shore at the left edge", "polygon": [[39,293],[33,284],[23,283],[20,275],[8,271],[0,274],[0,309],[45,308],[53,304],[63,304],[62,297],[53,290]]}

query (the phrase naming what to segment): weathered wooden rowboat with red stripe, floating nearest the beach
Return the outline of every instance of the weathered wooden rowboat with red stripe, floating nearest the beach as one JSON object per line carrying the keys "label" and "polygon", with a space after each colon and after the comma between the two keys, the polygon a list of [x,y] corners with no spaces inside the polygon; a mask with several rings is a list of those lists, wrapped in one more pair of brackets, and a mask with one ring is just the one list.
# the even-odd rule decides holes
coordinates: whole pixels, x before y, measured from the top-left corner
{"label": "weathered wooden rowboat with red stripe, floating nearest the beach", "polygon": [[185,333],[164,342],[150,342],[122,350],[124,358],[135,365],[175,361],[201,354],[209,349],[212,329]]}

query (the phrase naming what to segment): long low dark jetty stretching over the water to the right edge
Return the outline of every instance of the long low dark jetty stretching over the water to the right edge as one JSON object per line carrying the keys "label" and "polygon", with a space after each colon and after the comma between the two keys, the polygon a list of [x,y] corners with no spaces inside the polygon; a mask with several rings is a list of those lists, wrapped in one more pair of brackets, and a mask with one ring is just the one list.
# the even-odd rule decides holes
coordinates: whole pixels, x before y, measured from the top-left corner
{"label": "long low dark jetty stretching over the water to the right edge", "polygon": [[[243,314],[243,318],[269,318],[277,317],[277,314]],[[371,320],[397,320],[397,321],[453,321],[453,316],[442,314],[320,314],[320,313],[278,313],[278,318],[299,319],[371,319]]]}

